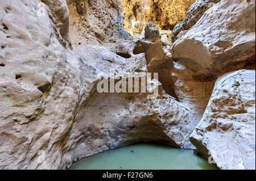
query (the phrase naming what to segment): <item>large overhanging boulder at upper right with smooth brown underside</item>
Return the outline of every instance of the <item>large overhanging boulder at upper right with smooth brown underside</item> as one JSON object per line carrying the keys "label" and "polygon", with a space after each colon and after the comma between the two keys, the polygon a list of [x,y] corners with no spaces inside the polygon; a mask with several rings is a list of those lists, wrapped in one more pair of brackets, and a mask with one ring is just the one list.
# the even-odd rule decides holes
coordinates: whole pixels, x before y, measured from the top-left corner
{"label": "large overhanging boulder at upper right with smooth brown underside", "polygon": [[[172,56],[197,64],[204,81],[255,67],[255,1],[221,1],[172,44]],[[249,66],[249,67],[248,67]]]}

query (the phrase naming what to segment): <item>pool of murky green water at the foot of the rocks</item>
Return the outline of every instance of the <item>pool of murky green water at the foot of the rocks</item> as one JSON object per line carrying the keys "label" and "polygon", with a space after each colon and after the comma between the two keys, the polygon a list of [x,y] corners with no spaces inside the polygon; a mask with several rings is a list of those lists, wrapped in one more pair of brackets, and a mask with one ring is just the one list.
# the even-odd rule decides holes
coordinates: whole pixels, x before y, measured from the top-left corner
{"label": "pool of murky green water at the foot of the rocks", "polygon": [[74,163],[72,170],[215,170],[215,165],[193,150],[155,144],[137,144],[105,151]]}

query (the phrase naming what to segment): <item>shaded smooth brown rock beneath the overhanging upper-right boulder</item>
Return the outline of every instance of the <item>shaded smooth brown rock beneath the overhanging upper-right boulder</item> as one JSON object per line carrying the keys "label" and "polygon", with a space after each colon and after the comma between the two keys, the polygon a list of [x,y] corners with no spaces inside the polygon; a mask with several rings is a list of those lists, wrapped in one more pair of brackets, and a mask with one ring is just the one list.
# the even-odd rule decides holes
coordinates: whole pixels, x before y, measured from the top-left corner
{"label": "shaded smooth brown rock beneath the overhanging upper-right boulder", "polygon": [[197,66],[192,62],[174,61],[171,79],[177,100],[203,116],[208,100],[212,95],[215,80],[198,81],[194,79],[193,74],[198,70],[200,69],[197,69]]}

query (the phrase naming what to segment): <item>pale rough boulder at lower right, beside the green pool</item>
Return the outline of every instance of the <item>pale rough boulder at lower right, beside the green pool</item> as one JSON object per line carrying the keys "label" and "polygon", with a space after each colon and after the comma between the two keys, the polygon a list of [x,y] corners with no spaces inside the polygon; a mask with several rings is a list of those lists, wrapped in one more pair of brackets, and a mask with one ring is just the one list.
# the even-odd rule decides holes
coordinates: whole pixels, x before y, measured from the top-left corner
{"label": "pale rough boulder at lower right, beside the green pool", "polygon": [[255,169],[255,70],[218,78],[190,140],[220,169]]}

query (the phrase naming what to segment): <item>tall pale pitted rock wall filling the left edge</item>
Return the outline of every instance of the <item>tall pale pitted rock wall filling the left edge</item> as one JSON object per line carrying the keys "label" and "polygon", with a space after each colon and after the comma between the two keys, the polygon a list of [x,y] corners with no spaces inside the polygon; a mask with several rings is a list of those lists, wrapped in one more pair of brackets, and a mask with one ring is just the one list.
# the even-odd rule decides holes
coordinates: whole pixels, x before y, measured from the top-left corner
{"label": "tall pale pitted rock wall filling the left edge", "polygon": [[1,1],[0,14],[0,167],[57,169],[60,139],[83,89],[80,61],[69,49],[67,4]]}

